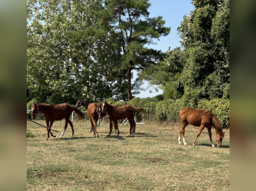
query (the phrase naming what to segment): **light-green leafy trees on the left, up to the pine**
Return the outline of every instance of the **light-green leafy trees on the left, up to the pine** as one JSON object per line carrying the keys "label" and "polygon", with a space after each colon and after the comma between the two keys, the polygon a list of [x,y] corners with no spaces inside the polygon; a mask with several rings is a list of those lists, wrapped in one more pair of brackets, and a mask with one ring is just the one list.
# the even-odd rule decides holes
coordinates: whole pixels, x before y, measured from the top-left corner
{"label": "light-green leafy trees on the left, up to the pine", "polygon": [[112,95],[95,59],[99,43],[85,30],[97,26],[94,12],[101,9],[100,0],[27,1],[28,99],[74,103],[78,97]]}

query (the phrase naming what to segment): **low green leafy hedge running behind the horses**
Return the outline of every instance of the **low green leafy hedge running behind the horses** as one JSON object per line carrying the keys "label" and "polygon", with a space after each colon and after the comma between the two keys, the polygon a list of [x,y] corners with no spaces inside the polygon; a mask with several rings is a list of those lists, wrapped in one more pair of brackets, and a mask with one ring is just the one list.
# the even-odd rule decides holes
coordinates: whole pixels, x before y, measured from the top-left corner
{"label": "low green leafy hedge running behind the horses", "polygon": [[[197,92],[195,92],[197,94]],[[223,128],[229,128],[229,99],[214,98],[212,100],[196,99],[193,93],[184,95],[178,100],[163,100],[163,101],[149,101],[147,98],[133,98],[129,101],[116,101],[112,98],[106,99],[109,104],[112,105],[124,105],[130,104],[135,107],[141,107],[147,111],[147,114],[136,113],[137,121],[166,121],[177,122],[179,121],[179,111],[184,107],[194,107],[198,109],[209,109],[220,120]],[[31,100],[27,103],[27,109],[30,109],[31,103],[35,100]],[[80,107],[81,111],[86,111],[84,107]],[[27,112],[27,117],[30,118],[31,113]],[[84,115],[88,119],[87,115]],[[37,115],[37,119],[43,119],[42,115]],[[74,119],[77,119],[77,115],[74,115]]]}

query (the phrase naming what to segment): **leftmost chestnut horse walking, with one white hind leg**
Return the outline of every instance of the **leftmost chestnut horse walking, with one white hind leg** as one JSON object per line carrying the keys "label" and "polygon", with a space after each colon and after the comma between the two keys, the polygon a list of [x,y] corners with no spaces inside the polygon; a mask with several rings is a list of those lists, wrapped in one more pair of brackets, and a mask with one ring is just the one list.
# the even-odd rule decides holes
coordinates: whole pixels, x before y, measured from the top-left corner
{"label": "leftmost chestnut horse walking, with one white hind leg", "polygon": [[[75,106],[72,106],[68,103],[60,103],[60,104],[46,104],[46,103],[33,103],[31,107],[32,113],[31,113],[31,118],[35,118],[37,113],[40,111],[43,113],[43,117],[45,119],[46,125],[47,125],[47,140],[51,134],[51,136],[56,137],[51,133],[51,126],[55,120],[61,120],[65,118],[65,127],[63,132],[60,135],[60,138],[64,135],[65,130],[67,129],[68,123],[71,126],[72,129],[72,135],[74,135],[74,128],[73,128],[73,123],[70,120],[70,115],[72,111],[75,111],[78,115],[78,117],[82,120],[83,119],[83,113],[76,108]],[[49,125],[50,122],[50,125]]]}

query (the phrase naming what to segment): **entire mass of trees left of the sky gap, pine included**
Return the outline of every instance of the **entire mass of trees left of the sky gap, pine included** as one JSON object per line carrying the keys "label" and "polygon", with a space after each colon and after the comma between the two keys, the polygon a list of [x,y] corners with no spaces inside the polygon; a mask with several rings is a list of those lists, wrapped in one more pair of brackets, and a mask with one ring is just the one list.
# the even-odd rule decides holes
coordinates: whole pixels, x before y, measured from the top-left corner
{"label": "entire mass of trees left of the sky gap, pine included", "polygon": [[131,99],[141,84],[131,84],[132,70],[161,58],[147,46],[170,31],[162,17],[149,17],[149,6],[147,0],[27,1],[27,101]]}

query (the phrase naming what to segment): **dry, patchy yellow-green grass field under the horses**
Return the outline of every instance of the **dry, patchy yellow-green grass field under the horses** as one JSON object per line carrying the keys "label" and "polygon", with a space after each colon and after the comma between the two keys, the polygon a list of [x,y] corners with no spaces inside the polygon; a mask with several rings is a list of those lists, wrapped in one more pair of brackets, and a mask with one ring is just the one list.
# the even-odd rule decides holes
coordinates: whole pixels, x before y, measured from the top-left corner
{"label": "dry, patchy yellow-green grass field under the horses", "polygon": [[[37,122],[45,125],[43,120]],[[65,121],[55,121],[56,138],[47,141],[46,128],[27,121],[27,190],[230,190],[230,131],[225,130],[221,148],[209,143],[207,128],[193,147],[199,127],[187,126],[187,146],[178,144],[180,123],[137,124],[135,136],[129,125],[119,125],[120,135],[109,132],[108,123],[90,133],[90,122],[74,121],[75,135]],[[213,143],[216,132],[212,129]]]}

